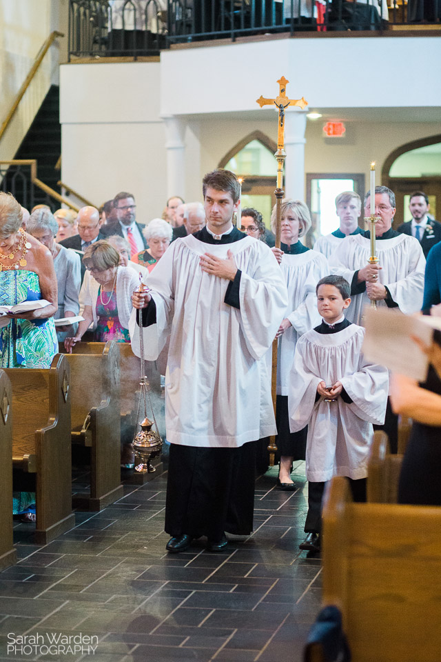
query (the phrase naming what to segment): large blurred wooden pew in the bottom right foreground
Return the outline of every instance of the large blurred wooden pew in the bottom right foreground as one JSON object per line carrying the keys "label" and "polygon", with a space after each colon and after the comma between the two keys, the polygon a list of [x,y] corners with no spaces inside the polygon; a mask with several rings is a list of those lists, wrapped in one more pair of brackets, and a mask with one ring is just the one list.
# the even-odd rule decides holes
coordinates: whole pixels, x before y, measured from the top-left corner
{"label": "large blurred wooden pew in the bottom right foreground", "polygon": [[352,503],[333,478],[323,508],[323,601],[342,611],[353,662],[439,662],[441,508]]}

